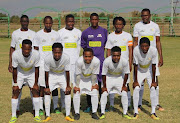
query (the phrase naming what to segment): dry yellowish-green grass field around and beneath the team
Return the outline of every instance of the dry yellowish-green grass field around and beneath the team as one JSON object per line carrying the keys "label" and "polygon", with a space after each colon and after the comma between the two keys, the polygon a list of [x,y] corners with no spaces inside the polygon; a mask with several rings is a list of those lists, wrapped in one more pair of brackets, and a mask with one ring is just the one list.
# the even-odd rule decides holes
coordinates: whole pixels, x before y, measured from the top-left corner
{"label": "dry yellowish-green grass field around and beneath the team", "polygon": [[[164,112],[157,111],[162,123],[179,123],[180,122],[180,38],[162,37],[164,65],[160,68],[161,75],[159,77],[160,86],[160,104],[165,108]],[[8,72],[8,54],[9,54],[10,39],[0,38],[0,123],[7,123],[11,118],[11,80],[12,75]],[[132,78],[131,78],[132,80]],[[132,82],[132,81],[131,81]],[[131,86],[132,87],[132,86]],[[132,88],[131,88],[132,90]],[[132,92],[131,92],[132,93]],[[85,96],[81,98],[82,109],[86,107]],[[143,108],[140,112],[138,120],[127,120],[122,118],[122,107],[120,98],[117,95],[115,98],[116,112],[106,113],[105,120],[95,121],[91,119],[90,114],[81,113],[81,119],[76,122],[82,123],[115,123],[115,122],[155,122],[150,118],[150,95],[147,84],[145,84],[145,92],[143,97]],[[32,104],[29,96],[29,88],[23,88],[23,94],[20,105],[21,115],[18,117],[17,123],[31,123],[33,121]],[[72,108],[72,112],[73,108]],[[133,111],[129,113],[133,116]],[[64,115],[52,113],[53,122],[67,122]],[[44,117],[42,117],[44,119]]]}

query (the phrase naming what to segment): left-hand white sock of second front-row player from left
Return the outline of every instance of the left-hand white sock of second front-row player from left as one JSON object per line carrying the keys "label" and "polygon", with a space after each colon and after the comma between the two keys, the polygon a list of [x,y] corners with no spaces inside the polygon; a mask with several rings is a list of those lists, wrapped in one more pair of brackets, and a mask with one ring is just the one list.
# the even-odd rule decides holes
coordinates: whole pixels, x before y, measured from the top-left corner
{"label": "left-hand white sock of second front-row player from left", "polygon": [[51,96],[50,95],[44,95],[44,104],[45,104],[45,111],[46,116],[50,116],[50,107],[51,107]]}

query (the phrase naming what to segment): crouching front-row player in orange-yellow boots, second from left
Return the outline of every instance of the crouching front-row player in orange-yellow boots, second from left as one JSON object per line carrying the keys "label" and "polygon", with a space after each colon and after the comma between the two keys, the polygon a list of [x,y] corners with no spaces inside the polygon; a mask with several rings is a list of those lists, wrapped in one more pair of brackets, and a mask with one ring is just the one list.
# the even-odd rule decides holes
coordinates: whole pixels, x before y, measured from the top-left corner
{"label": "crouching front-row player in orange-yellow boots, second from left", "polygon": [[45,58],[45,111],[46,119],[49,121],[50,118],[50,105],[51,105],[51,92],[56,88],[60,87],[65,93],[65,110],[68,121],[74,121],[70,117],[71,110],[71,87],[70,87],[70,59],[67,54],[63,53],[63,46],[61,43],[54,43],[52,46],[52,54],[49,54]]}

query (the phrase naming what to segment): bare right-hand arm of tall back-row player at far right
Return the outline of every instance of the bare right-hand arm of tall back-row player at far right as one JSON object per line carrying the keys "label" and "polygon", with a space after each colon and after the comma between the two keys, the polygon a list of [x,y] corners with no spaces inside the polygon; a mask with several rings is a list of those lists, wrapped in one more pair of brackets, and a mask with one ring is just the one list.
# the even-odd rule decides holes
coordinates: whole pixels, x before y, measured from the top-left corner
{"label": "bare right-hand arm of tall back-row player at far right", "polygon": [[156,47],[157,47],[159,57],[160,57],[158,67],[161,67],[161,66],[163,66],[163,55],[162,55],[160,36],[156,36]]}

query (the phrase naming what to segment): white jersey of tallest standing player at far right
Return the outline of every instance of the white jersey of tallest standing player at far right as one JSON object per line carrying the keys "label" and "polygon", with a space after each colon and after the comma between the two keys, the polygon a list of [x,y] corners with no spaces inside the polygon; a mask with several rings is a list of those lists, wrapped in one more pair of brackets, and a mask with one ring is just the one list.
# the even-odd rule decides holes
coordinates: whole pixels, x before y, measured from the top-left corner
{"label": "white jersey of tallest standing player at far right", "polygon": [[151,46],[156,47],[156,36],[160,36],[160,29],[158,24],[153,21],[150,21],[149,24],[144,24],[142,21],[135,24],[133,37],[138,37],[138,44],[142,37],[147,37]]}

